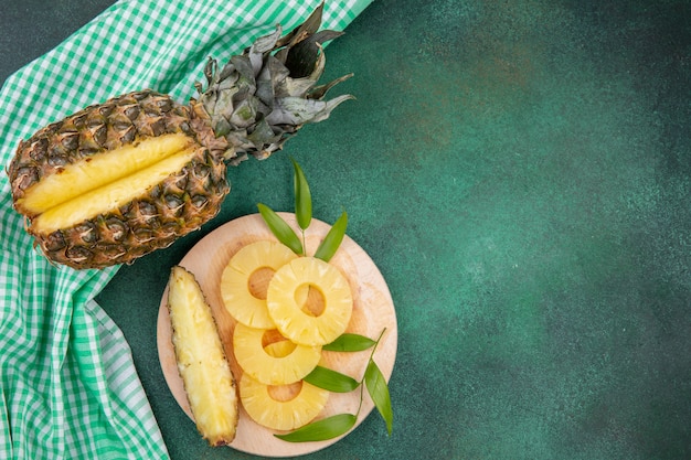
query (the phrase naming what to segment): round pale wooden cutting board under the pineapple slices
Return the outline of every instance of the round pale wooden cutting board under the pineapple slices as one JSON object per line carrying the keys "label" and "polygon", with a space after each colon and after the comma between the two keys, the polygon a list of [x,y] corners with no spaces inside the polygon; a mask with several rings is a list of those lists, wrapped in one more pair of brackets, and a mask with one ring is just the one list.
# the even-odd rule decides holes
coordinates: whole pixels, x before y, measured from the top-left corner
{"label": "round pale wooden cutting board under the pineapple slices", "polygon": [[[298,235],[300,234],[294,214],[279,213],[279,215],[296,229]],[[315,253],[329,228],[328,224],[312,220],[305,235],[308,255]],[[276,240],[276,238],[259,214],[247,215],[231,221],[211,232],[180,261],[182,267],[194,274],[204,291],[216,320],[231,370],[238,383],[242,370],[235,363],[232,346],[235,320],[227,313],[223,304],[220,280],[223,269],[233,255],[243,246],[257,240]],[[393,300],[386,282],[372,259],[348,236],[343,238],[330,264],[339,268],[346,276],[353,296],[353,312],[347,332],[376,339],[385,330],[374,353],[374,361],[389,381],[396,356],[397,324]],[[159,360],[166,383],[180,407],[190,418],[193,418],[176,364],[170,318],[168,315],[168,288],[163,292],[159,307],[157,335]],[[371,350],[357,353],[323,352],[323,365],[360,381],[366,367],[370,353]],[[374,408],[366,392],[364,394],[364,402],[355,427]],[[329,402],[318,416],[318,419],[336,414],[355,414],[359,404],[359,388],[346,394],[331,393]],[[383,424],[384,421],[382,420],[382,426]],[[191,426],[191,429],[194,429],[193,426]],[[254,422],[241,404],[237,434],[231,447],[256,456],[295,457],[323,449],[342,438],[319,442],[293,443],[274,437],[276,432]]]}

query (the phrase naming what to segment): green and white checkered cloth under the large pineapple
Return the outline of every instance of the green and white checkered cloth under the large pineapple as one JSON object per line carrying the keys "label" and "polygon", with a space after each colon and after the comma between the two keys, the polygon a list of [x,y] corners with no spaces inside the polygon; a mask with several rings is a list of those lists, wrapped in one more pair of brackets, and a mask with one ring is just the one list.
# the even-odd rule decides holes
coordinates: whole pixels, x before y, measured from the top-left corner
{"label": "green and white checkered cloth under the large pineapple", "polygon": [[[371,0],[330,0],[322,26],[342,30]],[[180,101],[224,61],[320,0],[120,1],[0,92],[0,159],[20,139],[89,104],[153,88]],[[50,265],[12,210],[0,174],[0,458],[168,458],[117,325],[94,301],[117,267]]]}

